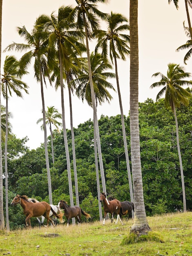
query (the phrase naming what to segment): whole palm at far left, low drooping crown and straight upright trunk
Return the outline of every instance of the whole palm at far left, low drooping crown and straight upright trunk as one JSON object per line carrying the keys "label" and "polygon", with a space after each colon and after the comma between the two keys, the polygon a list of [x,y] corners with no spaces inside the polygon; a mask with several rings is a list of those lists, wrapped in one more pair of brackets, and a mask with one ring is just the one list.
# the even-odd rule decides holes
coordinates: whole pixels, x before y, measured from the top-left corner
{"label": "whole palm at far left, low drooping crown and straight upright trunk", "polygon": [[22,75],[26,74],[25,70],[20,69],[20,63],[14,56],[6,56],[1,82],[2,82],[2,95],[6,100],[6,132],[5,132],[5,149],[4,149],[4,162],[5,162],[5,201],[6,201],[6,226],[9,231],[9,211],[8,211],[8,172],[7,172],[7,141],[8,141],[8,97],[12,96],[12,91],[18,97],[22,97],[22,90],[28,93],[28,86],[23,81],[19,80]]}

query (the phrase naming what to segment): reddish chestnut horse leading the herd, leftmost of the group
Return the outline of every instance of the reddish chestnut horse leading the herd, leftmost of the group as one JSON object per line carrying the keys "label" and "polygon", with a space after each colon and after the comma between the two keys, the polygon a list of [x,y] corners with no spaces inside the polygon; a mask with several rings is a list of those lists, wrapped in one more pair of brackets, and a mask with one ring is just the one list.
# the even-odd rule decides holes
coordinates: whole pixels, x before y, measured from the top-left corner
{"label": "reddish chestnut horse leading the herd, leftmost of the group", "polygon": [[16,195],[16,197],[14,197],[13,201],[11,202],[11,205],[20,204],[23,208],[24,214],[26,216],[26,227],[31,228],[31,217],[39,217],[42,215],[45,216],[45,218],[47,219],[47,225],[49,225],[50,221],[52,225],[55,227],[53,220],[51,220],[51,218],[49,217],[50,210],[53,212],[54,216],[56,216],[59,219],[60,223],[63,223],[63,213],[57,214],[47,202],[42,201],[34,204],[33,202],[28,202],[27,200],[27,195]]}

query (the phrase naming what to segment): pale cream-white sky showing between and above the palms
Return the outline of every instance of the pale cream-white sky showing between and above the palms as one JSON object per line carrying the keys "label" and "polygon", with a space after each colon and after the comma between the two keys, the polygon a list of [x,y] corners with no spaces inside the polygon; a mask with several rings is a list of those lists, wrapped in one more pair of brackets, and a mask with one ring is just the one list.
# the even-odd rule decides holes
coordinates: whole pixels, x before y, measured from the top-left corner
{"label": "pale cream-white sky showing between and above the palms", "polygon": [[[12,42],[24,43],[20,38],[16,27],[25,25],[31,32],[36,18],[40,14],[50,15],[53,11],[58,13],[58,8],[62,5],[76,6],[75,0],[4,0],[2,14],[2,50]],[[109,0],[108,4],[99,4],[100,11],[110,13],[121,13],[129,19],[128,0]],[[192,16],[192,10],[190,10]],[[152,74],[162,72],[166,75],[167,64],[176,63],[185,68],[186,72],[192,72],[192,59],[188,65],[183,63],[185,51],[176,52],[176,48],[186,43],[188,40],[183,29],[183,21],[188,27],[185,13],[184,1],[179,1],[179,10],[176,10],[173,2],[168,4],[168,0],[138,0],[138,29],[139,29],[139,102],[144,102],[147,98],[155,101],[158,89],[150,89],[150,85],[158,78],[152,78]],[[94,43],[90,45],[90,50],[94,50]],[[6,55],[15,55],[16,52],[6,52],[2,54],[2,67]],[[40,84],[34,79],[33,69],[30,74],[22,80],[29,86],[29,95],[23,93],[23,99],[13,96],[9,99],[9,112],[13,118],[11,122],[12,132],[16,137],[22,139],[27,136],[29,141],[27,146],[36,149],[44,142],[44,134],[40,130],[37,120],[42,117],[42,101]],[[2,72],[2,68],[1,68]],[[121,97],[124,115],[129,113],[129,58],[127,61],[118,61],[118,76],[120,82]],[[116,89],[116,80],[113,79]],[[54,88],[44,89],[45,107],[54,106],[61,113],[60,90],[55,92]],[[118,95],[111,91],[113,99],[110,104],[104,103],[98,106],[98,119],[100,115],[116,116],[120,114]],[[65,90],[65,121],[70,129],[68,92]],[[5,106],[4,99],[2,104]],[[93,119],[93,111],[87,103],[82,103],[76,96],[72,99],[74,127],[84,123],[89,118]],[[47,136],[49,129],[47,129]]]}

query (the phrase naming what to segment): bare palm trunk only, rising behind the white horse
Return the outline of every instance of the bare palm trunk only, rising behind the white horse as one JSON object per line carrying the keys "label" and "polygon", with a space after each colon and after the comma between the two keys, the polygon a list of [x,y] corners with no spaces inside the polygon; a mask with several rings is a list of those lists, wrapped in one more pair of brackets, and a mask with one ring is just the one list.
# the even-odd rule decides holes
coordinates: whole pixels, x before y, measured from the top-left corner
{"label": "bare palm trunk only, rising behind the white horse", "polygon": [[46,117],[45,117],[45,100],[44,100],[40,60],[39,60],[39,72],[40,72],[40,85],[41,85],[42,115],[43,115],[43,127],[44,127],[44,145],[45,145],[45,161],[46,161],[46,168],[47,168],[49,204],[53,204],[52,189],[51,189],[51,173],[50,173],[50,168],[49,168],[49,155],[48,155],[48,147],[47,147],[47,127],[46,127]]}

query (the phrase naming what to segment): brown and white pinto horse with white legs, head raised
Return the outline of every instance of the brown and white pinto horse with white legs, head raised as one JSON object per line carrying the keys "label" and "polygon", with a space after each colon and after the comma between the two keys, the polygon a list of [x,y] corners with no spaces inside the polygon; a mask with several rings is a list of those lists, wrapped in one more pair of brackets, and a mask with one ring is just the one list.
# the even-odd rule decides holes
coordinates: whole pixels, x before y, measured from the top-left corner
{"label": "brown and white pinto horse with white legs, head raised", "polygon": [[117,199],[114,199],[112,201],[108,201],[106,198],[105,193],[101,193],[100,194],[100,202],[103,202],[103,209],[104,209],[104,217],[103,217],[103,225],[105,225],[105,217],[107,215],[107,213],[110,213],[112,216],[111,222],[115,222],[114,220],[114,213],[117,214],[117,220],[115,222],[115,224],[117,224],[118,222],[118,218],[121,221],[121,223],[123,224],[121,217],[119,216],[120,210],[121,210],[121,202]]}

